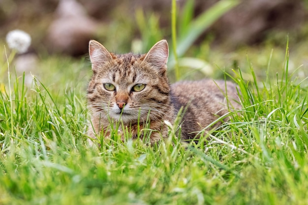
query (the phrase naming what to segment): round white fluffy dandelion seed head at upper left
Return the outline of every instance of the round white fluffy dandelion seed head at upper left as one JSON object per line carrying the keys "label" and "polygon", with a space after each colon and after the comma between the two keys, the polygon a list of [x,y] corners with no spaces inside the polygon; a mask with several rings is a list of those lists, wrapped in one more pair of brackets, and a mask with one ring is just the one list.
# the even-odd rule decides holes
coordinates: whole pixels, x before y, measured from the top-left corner
{"label": "round white fluffy dandelion seed head at upper left", "polygon": [[17,53],[25,53],[30,44],[31,36],[23,30],[11,30],[6,35],[6,43],[10,49],[15,49]]}

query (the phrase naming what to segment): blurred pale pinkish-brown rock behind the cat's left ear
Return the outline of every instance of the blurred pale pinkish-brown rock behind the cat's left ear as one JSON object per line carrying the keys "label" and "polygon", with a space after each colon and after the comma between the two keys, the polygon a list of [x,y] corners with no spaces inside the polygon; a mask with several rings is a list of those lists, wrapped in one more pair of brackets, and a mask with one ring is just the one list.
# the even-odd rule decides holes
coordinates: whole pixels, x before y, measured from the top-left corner
{"label": "blurred pale pinkish-brown rock behind the cat's left ear", "polygon": [[47,44],[53,52],[78,56],[87,53],[89,40],[95,36],[98,23],[87,15],[75,0],[60,0],[56,19],[47,33]]}

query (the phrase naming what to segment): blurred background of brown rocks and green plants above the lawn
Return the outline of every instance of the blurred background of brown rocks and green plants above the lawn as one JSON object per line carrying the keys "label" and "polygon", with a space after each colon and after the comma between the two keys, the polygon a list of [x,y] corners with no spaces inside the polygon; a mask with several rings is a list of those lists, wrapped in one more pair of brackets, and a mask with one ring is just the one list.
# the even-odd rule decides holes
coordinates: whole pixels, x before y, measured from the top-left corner
{"label": "blurred background of brown rocks and green plants above the lawn", "polygon": [[[183,49],[178,54],[180,77],[171,74],[172,81],[219,78],[219,70],[231,72],[238,67],[245,74],[251,65],[262,78],[269,62],[274,73],[283,68],[287,41],[290,69],[303,65],[298,75],[307,76],[307,0],[176,3],[177,43]],[[171,0],[0,0],[0,45],[5,45],[7,32],[22,29],[31,35],[27,53],[35,58],[48,62],[53,57],[65,58],[67,64],[84,59],[87,67],[90,39],[116,53],[145,53],[158,40],[167,39],[172,73],[171,6]],[[30,63],[30,69],[35,66],[37,62]]]}

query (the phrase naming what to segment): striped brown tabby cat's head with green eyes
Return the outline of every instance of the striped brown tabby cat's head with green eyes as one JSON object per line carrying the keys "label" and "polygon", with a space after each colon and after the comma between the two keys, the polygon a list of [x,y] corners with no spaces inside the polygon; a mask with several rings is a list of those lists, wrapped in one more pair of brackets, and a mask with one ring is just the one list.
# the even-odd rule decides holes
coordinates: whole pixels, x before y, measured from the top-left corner
{"label": "striped brown tabby cat's head with green eyes", "polygon": [[170,104],[166,75],[169,55],[166,40],[157,42],[147,54],[115,55],[97,41],[90,41],[92,79],[88,103],[94,117],[120,118],[134,123],[159,119]]}

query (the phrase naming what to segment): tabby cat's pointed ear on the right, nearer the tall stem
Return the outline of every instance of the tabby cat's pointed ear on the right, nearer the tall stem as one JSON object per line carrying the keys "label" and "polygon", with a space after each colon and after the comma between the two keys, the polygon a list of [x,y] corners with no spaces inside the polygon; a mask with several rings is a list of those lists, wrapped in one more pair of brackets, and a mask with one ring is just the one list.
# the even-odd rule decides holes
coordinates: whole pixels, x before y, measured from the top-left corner
{"label": "tabby cat's pointed ear on the right, nearer the tall stem", "polygon": [[150,62],[155,68],[166,71],[168,56],[168,43],[166,40],[161,40],[150,49],[144,60]]}

